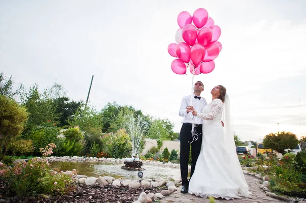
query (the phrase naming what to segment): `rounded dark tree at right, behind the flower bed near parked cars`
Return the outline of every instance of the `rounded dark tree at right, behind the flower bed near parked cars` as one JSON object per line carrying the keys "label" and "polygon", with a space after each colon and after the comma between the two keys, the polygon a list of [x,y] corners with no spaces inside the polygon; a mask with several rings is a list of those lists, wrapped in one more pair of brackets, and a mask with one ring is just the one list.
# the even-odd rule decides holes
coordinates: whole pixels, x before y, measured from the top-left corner
{"label": "rounded dark tree at right, behind the flower bed near parked cars", "polygon": [[263,140],[264,148],[275,150],[283,155],[285,149],[293,149],[297,143],[296,135],[291,132],[270,133]]}

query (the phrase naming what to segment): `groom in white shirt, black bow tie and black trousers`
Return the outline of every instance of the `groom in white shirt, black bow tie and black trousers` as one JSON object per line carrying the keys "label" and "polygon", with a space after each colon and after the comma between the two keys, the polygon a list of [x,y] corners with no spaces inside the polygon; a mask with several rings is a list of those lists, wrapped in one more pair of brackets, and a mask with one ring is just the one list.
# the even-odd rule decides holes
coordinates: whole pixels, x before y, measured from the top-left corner
{"label": "groom in white shirt, black bow tie and black trousers", "polygon": [[[183,97],[181,108],[179,114],[183,117],[182,128],[180,132],[180,143],[181,143],[181,151],[180,151],[180,164],[181,164],[181,177],[182,177],[182,193],[188,192],[188,184],[189,181],[187,179],[188,176],[188,159],[189,159],[189,151],[191,145],[191,172],[190,178],[194,172],[195,164],[197,158],[200,154],[201,144],[202,144],[202,120],[193,117],[192,110],[195,109],[197,112],[201,112],[202,108],[207,105],[207,102],[204,98],[200,97],[200,94],[204,91],[204,85],[201,81],[197,81],[193,87],[192,94],[192,106],[190,105],[191,95]],[[191,130],[192,123],[194,123],[194,131],[198,135],[195,136],[198,139],[193,139]]]}

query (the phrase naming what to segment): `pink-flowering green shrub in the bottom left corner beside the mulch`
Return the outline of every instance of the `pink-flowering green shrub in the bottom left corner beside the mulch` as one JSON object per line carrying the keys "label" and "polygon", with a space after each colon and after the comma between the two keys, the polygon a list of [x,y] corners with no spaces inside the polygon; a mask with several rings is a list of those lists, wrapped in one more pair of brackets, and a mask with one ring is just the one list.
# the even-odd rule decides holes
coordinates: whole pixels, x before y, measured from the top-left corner
{"label": "pink-flowering green shrub in the bottom left corner beside the mulch", "polygon": [[[52,154],[55,144],[51,143],[41,149],[43,156]],[[71,177],[77,171],[67,175],[56,170],[51,171],[45,158],[33,158],[28,162],[19,162],[13,168],[0,163],[0,178],[8,181],[10,196],[30,196],[35,193],[64,194],[73,188]]]}

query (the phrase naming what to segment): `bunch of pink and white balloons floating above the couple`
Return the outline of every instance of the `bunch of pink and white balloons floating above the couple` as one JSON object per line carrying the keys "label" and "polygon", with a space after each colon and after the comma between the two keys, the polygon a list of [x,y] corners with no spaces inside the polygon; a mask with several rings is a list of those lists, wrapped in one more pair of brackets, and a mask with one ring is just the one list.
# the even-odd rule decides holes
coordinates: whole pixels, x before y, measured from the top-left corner
{"label": "bunch of pink and white balloons floating above the couple", "polygon": [[[193,24],[192,24],[193,22]],[[177,16],[180,28],[176,31],[175,41],[168,46],[173,60],[171,69],[176,74],[185,74],[189,67],[193,75],[210,73],[215,68],[214,59],[219,55],[222,45],[217,41],[221,28],[215,25],[206,9],[195,10],[192,17],[187,11]]]}

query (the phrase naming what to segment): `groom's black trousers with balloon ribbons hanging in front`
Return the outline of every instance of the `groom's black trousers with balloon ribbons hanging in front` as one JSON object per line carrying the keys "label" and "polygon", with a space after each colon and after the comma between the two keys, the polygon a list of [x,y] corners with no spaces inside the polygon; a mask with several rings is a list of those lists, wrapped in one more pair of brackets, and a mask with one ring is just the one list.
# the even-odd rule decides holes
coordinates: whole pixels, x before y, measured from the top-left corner
{"label": "groom's black trousers with balloon ribbons hanging in front", "polygon": [[[181,151],[180,151],[180,164],[181,164],[181,177],[182,185],[189,184],[187,179],[188,177],[188,159],[190,151],[190,142],[192,141],[192,124],[184,123],[181,128],[180,133],[180,142],[181,142]],[[196,160],[200,154],[201,145],[202,145],[202,125],[197,125],[195,131],[198,134],[198,139],[193,140],[191,143],[191,172],[190,178],[194,172]]]}

